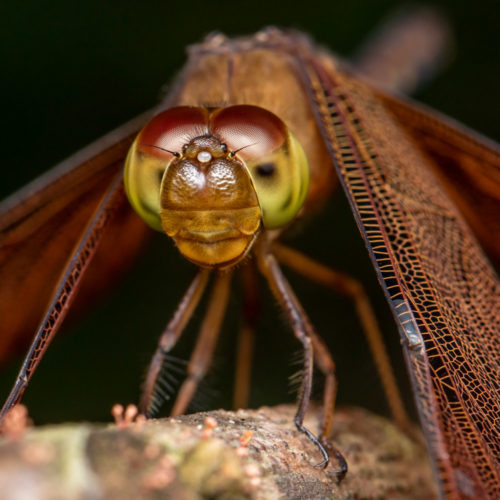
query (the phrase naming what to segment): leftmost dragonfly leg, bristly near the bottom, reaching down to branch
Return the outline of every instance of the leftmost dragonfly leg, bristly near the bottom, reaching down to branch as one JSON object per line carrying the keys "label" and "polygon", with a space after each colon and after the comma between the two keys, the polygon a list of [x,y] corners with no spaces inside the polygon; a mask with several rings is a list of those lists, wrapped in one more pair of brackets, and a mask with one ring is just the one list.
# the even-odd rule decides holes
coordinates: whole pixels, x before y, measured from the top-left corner
{"label": "leftmost dragonfly leg, bristly near the bottom, reaching down to branch", "polygon": [[159,377],[165,367],[166,357],[175,346],[187,322],[193,315],[203,292],[207,286],[210,270],[199,269],[186,293],[182,297],[172,319],[169,321],[165,331],[158,342],[158,347],[149,365],[146,381],[142,389],[139,410],[147,416],[151,416],[156,410],[155,393],[158,390]]}

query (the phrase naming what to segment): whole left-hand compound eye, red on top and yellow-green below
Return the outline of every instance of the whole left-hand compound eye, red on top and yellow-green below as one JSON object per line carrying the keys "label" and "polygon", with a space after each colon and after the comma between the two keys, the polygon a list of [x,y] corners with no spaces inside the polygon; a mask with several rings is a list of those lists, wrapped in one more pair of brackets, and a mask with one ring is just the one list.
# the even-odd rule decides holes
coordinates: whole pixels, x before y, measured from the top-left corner
{"label": "whole left-hand compound eye, red on top and yellow-green below", "polygon": [[163,231],[160,187],[166,169],[185,144],[207,131],[206,109],[179,106],[156,115],[132,144],[125,161],[125,191],[134,210],[153,229]]}

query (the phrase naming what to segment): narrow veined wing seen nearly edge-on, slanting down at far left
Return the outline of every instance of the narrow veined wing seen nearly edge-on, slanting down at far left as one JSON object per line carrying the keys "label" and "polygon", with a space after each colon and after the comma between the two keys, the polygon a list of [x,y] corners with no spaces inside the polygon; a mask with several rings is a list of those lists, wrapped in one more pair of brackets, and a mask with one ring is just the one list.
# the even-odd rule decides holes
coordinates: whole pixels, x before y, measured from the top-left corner
{"label": "narrow veined wing seen nearly edge-on, slanting down at far left", "polygon": [[94,257],[99,243],[118,209],[127,203],[121,175],[111,184],[92,219],[87,225],[57,285],[30,349],[17,376],[16,382],[0,411],[0,423],[9,410],[21,399],[33,373],[50,342],[59,330],[76,296],[82,278]]}

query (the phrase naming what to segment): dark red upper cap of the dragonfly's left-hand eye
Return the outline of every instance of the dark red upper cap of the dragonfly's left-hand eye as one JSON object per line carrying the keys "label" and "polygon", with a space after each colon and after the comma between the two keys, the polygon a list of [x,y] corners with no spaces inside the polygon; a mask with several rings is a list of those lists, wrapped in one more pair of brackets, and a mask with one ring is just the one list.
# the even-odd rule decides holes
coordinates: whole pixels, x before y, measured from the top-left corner
{"label": "dark red upper cap of the dragonfly's left-hand eye", "polygon": [[[140,132],[137,148],[141,153],[170,160],[181,153],[191,139],[208,133],[208,111],[205,108],[178,106],[156,115]],[[166,151],[162,151],[166,150]]]}

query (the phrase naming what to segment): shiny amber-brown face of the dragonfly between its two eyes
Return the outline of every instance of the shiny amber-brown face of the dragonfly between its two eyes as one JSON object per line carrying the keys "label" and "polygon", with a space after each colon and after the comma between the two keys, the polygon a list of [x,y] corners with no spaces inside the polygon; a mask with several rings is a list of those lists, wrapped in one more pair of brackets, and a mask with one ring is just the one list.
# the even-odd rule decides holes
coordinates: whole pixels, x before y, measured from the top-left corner
{"label": "shiny amber-brown face of the dragonfly between its two eyes", "polygon": [[166,169],[160,188],[165,233],[187,259],[202,266],[238,262],[260,227],[250,176],[225,151],[214,136],[192,139]]}

